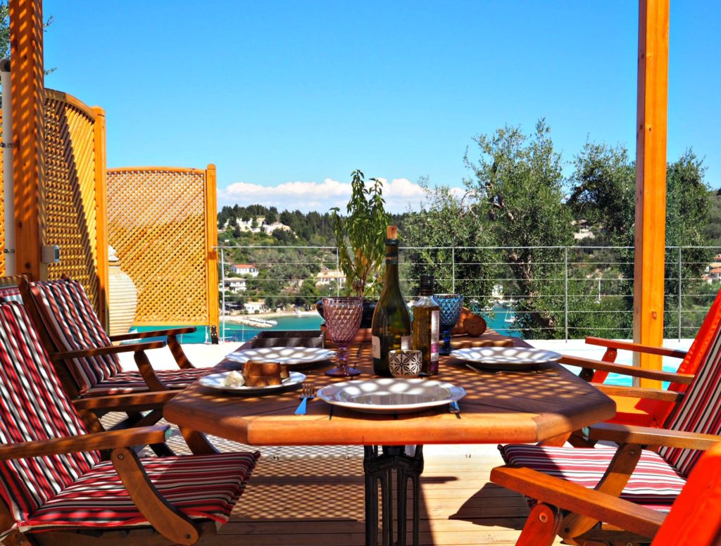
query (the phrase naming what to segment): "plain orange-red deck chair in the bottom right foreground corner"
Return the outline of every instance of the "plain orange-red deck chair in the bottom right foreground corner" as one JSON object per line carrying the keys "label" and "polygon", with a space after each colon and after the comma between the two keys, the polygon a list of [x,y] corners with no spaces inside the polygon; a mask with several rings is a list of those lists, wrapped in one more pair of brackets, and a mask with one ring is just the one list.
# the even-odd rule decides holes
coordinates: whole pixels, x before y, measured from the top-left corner
{"label": "plain orange-red deck chair in the bottom right foreground corner", "polygon": [[721,443],[696,464],[665,519],[658,511],[528,468],[495,468],[491,481],[539,499],[516,546],[552,545],[562,527],[563,511],[569,510],[640,537],[653,537],[651,546],[721,544]]}

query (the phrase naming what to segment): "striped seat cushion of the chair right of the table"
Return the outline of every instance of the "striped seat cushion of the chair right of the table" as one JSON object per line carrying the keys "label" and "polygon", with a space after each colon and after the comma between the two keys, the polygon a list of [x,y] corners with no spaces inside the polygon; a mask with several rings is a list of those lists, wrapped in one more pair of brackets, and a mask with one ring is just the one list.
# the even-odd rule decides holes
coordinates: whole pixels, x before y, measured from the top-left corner
{"label": "striped seat cushion of the chair right of the table", "polygon": [[[508,444],[498,449],[508,465],[532,468],[588,488],[598,485],[616,453],[616,448],[605,446],[575,449]],[[685,484],[686,479],[662,457],[644,450],[621,498],[668,511]]]}

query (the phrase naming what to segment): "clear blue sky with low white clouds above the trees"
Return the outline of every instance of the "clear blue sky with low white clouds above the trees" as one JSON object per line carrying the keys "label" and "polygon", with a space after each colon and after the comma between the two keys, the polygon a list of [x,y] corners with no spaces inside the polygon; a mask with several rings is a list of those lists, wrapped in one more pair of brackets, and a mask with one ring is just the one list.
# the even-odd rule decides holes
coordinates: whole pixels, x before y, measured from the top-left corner
{"label": "clear blue sky with low white clouds above the trees", "polygon": [[[637,3],[45,0],[45,84],[107,113],[108,166],[218,167],[219,202],[326,210],[350,171],[462,185],[472,137],[539,117],[565,160],[635,149]],[[715,2],[671,5],[668,158],[721,186]],[[234,184],[234,185],[233,185]]]}

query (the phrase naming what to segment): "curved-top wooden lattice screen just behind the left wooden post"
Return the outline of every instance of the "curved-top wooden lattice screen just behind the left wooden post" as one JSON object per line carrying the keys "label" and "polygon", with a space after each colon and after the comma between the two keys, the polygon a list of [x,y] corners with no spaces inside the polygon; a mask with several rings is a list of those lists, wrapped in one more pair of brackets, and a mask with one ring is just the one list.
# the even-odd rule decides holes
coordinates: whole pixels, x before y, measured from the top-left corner
{"label": "curved-top wooden lattice screen just behind the left wooden post", "polygon": [[[48,279],[68,274],[79,280],[105,320],[105,114],[71,95],[45,89],[45,138],[40,232],[45,243],[60,246],[61,252],[60,264],[48,266]],[[2,176],[0,168],[0,181]],[[0,183],[0,275],[6,274],[3,204]]]}

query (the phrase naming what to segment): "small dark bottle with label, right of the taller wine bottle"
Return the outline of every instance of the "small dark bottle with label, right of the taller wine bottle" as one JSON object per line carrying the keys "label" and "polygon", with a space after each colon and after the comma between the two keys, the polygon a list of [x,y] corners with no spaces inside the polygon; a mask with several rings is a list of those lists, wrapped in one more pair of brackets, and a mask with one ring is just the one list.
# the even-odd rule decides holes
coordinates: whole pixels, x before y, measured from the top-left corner
{"label": "small dark bottle with label, right of the taller wine bottle", "polygon": [[421,375],[438,374],[441,308],[433,299],[433,275],[420,276],[420,297],[413,305],[413,349],[423,353]]}

